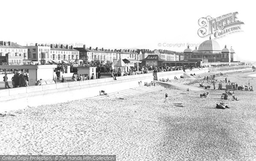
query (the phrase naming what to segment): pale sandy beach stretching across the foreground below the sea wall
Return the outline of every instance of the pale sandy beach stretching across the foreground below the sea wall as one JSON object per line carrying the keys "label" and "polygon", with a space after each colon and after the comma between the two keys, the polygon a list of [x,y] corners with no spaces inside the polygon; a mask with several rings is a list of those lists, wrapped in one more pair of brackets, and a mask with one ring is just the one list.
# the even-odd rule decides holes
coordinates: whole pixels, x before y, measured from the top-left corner
{"label": "pale sandy beach stretching across the foreground below the sea wall", "polygon": [[[255,89],[254,73],[232,74],[228,79],[244,86],[250,79]],[[84,99],[11,111],[16,116],[0,118],[0,155],[255,161],[255,90],[235,91],[239,101],[224,101],[230,109],[215,108],[224,90],[208,90],[209,98],[200,98],[200,92],[164,89],[124,99]],[[165,93],[168,103],[163,103]]]}

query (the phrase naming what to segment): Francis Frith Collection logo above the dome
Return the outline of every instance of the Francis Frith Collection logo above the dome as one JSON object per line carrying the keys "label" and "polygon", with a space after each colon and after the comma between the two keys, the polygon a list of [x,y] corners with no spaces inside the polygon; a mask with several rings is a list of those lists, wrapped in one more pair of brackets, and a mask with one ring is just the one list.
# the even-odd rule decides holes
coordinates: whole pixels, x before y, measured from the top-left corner
{"label": "Francis Frith Collection logo above the dome", "polygon": [[220,38],[234,32],[241,32],[241,24],[236,17],[238,12],[224,14],[217,18],[211,16],[202,17],[198,20],[198,35],[200,37],[208,37],[213,35],[215,38]]}

